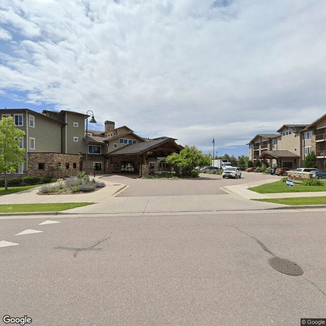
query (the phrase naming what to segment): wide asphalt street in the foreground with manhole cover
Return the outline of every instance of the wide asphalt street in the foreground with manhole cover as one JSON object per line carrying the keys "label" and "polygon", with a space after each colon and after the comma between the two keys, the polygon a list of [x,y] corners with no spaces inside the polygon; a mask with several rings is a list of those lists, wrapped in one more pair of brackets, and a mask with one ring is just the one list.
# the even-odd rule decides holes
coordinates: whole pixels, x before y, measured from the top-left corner
{"label": "wide asphalt street in the foreground with manhole cover", "polygon": [[[326,318],[326,212],[0,220],[0,314],[32,325]],[[39,225],[49,219],[60,223]],[[15,235],[23,230],[43,231]],[[270,253],[300,265],[271,268]],[[3,323],[5,324],[5,323]]]}

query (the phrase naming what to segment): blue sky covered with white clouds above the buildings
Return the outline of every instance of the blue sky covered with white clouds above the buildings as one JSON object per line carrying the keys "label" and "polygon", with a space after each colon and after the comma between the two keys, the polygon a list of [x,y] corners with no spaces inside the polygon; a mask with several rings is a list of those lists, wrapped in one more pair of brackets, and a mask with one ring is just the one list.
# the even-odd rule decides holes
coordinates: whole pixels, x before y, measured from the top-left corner
{"label": "blue sky covered with white clouds above the buildings", "polygon": [[320,0],[2,0],[0,108],[248,155],[326,113],[325,17]]}

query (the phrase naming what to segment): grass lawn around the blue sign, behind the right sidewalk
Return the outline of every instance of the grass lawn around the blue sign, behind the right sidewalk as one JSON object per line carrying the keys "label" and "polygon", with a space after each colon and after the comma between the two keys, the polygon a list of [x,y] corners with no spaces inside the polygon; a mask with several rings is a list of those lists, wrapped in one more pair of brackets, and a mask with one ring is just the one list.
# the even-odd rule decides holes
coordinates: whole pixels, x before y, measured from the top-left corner
{"label": "grass lawn around the blue sign, behind the right sidewalk", "polygon": [[259,194],[326,192],[326,182],[323,181],[323,184],[315,186],[302,185],[300,182],[293,181],[293,187],[290,187],[280,180],[248,189]]}

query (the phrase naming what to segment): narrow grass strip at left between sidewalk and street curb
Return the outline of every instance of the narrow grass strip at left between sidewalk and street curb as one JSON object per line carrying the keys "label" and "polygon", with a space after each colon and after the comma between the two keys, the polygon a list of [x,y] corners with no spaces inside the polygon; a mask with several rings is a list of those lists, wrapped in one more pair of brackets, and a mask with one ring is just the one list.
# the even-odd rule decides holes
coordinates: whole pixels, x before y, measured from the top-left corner
{"label": "narrow grass strip at left between sidewalk and street curb", "polygon": [[0,205],[0,213],[57,212],[92,204],[94,203],[6,204]]}

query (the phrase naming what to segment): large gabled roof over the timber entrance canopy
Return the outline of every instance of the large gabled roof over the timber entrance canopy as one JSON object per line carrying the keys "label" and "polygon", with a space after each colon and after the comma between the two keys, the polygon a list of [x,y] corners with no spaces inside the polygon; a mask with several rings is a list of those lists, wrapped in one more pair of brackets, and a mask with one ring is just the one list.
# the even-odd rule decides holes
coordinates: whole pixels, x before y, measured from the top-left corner
{"label": "large gabled roof over the timber entrance canopy", "polygon": [[175,151],[180,151],[182,146],[178,145],[175,143],[176,139],[174,138],[159,138],[156,140],[152,140],[149,142],[142,142],[142,143],[134,143],[134,144],[130,144],[130,145],[126,145],[123,146],[122,148],[116,149],[110,153],[108,153],[107,155],[121,155],[121,154],[142,154],[145,153],[147,151],[150,151],[154,148],[157,148],[158,145],[164,145],[166,143],[171,142],[171,145],[174,147],[173,149],[167,149],[167,151],[171,151],[171,153],[173,152],[173,150]]}

